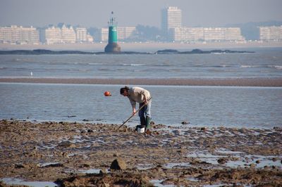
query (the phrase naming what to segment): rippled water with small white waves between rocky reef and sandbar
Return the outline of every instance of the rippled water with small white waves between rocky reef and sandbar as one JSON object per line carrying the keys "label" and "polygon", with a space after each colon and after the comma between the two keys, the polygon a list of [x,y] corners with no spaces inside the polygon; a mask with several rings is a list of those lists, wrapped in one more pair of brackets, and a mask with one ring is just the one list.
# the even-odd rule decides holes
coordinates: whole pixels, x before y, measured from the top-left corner
{"label": "rippled water with small white waves between rocky reef and sandbar", "polygon": [[245,49],[245,51],[255,53],[1,55],[0,78],[282,77],[281,48]]}

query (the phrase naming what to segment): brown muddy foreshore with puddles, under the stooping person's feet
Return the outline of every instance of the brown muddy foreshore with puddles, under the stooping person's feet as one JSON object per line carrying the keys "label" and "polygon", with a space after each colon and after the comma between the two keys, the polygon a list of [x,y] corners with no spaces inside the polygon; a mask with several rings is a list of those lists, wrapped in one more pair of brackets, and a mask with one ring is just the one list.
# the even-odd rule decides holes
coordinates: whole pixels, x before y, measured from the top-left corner
{"label": "brown muddy foreshore with puddles, under the stooping person's feet", "polygon": [[[0,121],[0,179],[62,186],[282,185],[282,128]],[[122,160],[122,170],[110,169]],[[101,172],[100,172],[101,171]],[[0,186],[7,186],[0,183]]]}

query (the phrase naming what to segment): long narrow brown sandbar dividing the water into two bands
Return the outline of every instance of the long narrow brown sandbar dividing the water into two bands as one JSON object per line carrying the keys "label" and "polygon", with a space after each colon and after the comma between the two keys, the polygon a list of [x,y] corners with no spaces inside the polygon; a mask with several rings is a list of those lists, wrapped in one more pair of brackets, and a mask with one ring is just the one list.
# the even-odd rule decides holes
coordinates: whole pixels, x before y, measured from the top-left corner
{"label": "long narrow brown sandbar dividing the water into two bands", "polygon": [[179,85],[179,86],[282,86],[282,78],[226,78],[226,79],[92,79],[92,78],[0,78],[0,82],[51,84],[123,84],[123,85]]}

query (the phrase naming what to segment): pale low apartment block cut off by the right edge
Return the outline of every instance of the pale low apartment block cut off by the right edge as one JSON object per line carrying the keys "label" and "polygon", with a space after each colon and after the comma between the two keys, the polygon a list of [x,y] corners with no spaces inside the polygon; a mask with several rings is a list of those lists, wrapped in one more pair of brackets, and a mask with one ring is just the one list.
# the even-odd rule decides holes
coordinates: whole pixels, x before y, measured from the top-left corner
{"label": "pale low apartment block cut off by the right edge", "polygon": [[259,39],[262,41],[281,41],[282,25],[278,27],[259,27]]}

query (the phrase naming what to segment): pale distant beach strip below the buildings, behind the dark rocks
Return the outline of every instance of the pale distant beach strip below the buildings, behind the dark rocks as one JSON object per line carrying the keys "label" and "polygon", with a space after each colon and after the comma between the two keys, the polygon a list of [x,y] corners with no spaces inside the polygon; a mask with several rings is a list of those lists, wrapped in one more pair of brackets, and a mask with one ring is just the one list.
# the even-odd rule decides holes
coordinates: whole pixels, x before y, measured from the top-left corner
{"label": "pale distant beach strip below the buildings, behind the dark rocks", "polygon": [[[166,42],[142,42],[142,43],[118,43],[121,46],[121,51],[140,51],[149,52],[163,50],[163,49],[176,49],[178,51],[191,51],[192,49],[213,50],[213,49],[231,49],[231,50],[253,50],[258,48],[281,48],[282,41],[246,41],[246,42],[195,42],[195,43],[166,43]],[[47,49],[52,51],[87,51],[99,52],[104,51],[106,43],[94,44],[0,44],[0,50],[35,50]]]}

